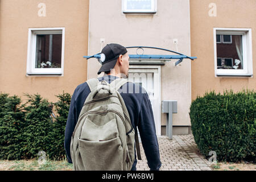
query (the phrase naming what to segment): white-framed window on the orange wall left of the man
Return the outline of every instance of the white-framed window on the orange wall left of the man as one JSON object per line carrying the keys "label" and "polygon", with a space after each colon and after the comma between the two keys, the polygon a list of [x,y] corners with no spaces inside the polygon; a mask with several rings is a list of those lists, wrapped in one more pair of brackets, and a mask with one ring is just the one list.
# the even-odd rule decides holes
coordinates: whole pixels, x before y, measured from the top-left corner
{"label": "white-framed window on the orange wall left of the man", "polygon": [[64,28],[29,28],[27,75],[63,75]]}

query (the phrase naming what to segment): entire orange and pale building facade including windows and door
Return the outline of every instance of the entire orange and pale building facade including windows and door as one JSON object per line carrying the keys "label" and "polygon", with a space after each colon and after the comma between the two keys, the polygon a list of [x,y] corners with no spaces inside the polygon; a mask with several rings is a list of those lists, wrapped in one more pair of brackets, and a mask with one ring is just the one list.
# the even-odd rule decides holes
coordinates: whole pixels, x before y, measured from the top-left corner
{"label": "entire orange and pale building facade including windows and door", "polygon": [[[1,0],[0,92],[72,94],[97,75],[108,43],[170,49],[192,61],[131,60],[129,80],[147,90],[156,133],[166,134],[161,102],[177,101],[173,134],[191,133],[189,107],[205,91],[255,89],[254,0]],[[222,50],[222,51],[221,51]],[[224,51],[223,51],[224,50]],[[232,51],[230,51],[232,50]],[[170,55],[129,48],[129,55]],[[227,52],[234,52],[226,54]]]}

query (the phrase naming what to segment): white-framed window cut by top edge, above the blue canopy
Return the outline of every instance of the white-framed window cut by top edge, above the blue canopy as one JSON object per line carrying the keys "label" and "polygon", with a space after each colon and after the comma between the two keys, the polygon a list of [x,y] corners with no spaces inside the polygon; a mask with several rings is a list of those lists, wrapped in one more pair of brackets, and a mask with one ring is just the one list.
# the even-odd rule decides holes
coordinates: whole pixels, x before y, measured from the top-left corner
{"label": "white-framed window cut by top edge, above the blue canopy", "polygon": [[157,0],[122,0],[123,13],[156,13]]}

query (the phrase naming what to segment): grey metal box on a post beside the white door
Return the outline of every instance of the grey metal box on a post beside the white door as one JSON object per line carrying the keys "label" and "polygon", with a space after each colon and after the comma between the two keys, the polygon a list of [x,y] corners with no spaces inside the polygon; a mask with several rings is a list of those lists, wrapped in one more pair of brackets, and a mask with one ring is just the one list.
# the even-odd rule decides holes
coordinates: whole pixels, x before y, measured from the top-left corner
{"label": "grey metal box on a post beside the white door", "polygon": [[177,101],[162,101],[162,113],[167,114],[166,135],[172,139],[172,113],[177,113]]}

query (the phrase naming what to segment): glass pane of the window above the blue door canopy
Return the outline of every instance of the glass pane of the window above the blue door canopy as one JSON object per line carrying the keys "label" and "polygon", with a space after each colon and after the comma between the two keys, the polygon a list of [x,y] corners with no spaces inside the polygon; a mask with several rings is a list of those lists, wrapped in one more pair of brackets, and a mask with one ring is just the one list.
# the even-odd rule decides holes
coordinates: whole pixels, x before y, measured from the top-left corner
{"label": "glass pane of the window above the blue door canopy", "polygon": [[127,0],[127,10],[151,10],[153,0]]}

